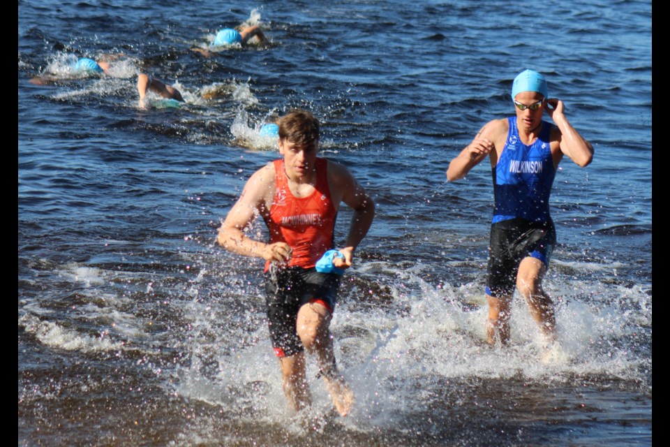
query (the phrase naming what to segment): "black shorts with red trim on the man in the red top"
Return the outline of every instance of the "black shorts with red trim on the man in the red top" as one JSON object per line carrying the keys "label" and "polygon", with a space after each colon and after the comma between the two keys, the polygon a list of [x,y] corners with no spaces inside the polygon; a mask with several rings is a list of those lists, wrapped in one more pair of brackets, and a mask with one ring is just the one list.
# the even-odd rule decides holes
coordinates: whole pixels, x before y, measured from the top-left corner
{"label": "black shorts with red trim on the man in the red top", "polygon": [[339,274],[300,267],[265,274],[270,340],[278,357],[292,356],[304,350],[296,330],[300,307],[308,302],[319,302],[332,313],[340,279]]}

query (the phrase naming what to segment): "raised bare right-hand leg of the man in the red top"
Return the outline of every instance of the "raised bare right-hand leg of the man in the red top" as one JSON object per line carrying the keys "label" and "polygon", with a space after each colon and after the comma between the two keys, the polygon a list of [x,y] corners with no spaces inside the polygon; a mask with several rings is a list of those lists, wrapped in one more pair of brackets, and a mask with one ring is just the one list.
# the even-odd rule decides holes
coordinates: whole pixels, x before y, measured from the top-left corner
{"label": "raised bare right-hand leg of the man in the red top", "polygon": [[330,312],[323,305],[308,303],[298,312],[297,331],[308,353],[315,353],[317,356],[320,373],[335,409],[341,416],[347,416],[354,404],[354,393],[335,365],[333,340],[329,330],[331,319]]}

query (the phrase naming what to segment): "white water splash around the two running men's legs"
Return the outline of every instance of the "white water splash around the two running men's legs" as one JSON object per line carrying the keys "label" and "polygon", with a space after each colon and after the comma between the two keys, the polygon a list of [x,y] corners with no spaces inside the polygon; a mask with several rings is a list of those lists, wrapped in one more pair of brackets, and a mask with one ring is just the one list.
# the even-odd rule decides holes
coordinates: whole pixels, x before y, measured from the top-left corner
{"label": "white water splash around the two running men's legs", "polygon": [[[375,274],[368,274],[371,271]],[[640,370],[646,360],[629,344],[618,342],[631,332],[630,325],[637,324],[636,311],[621,312],[623,309],[610,305],[600,308],[609,298],[624,293],[617,286],[550,278],[547,289],[560,295],[556,299],[560,348],[547,354],[546,341],[519,296],[512,305],[511,346],[491,347],[484,329],[486,306],[481,300],[472,304],[476,300],[470,296],[482,294],[480,285],[433,286],[423,279],[424,273],[420,266],[402,270],[383,262],[352,272],[362,277],[362,286],[348,288],[331,326],[338,364],[356,395],[352,413],[340,422],[352,430],[394,427],[399,409],[417,400],[419,384],[432,389],[445,381],[522,380],[573,386],[585,377],[604,383],[646,380]],[[361,295],[375,288],[368,281],[389,274],[393,282],[389,296],[369,296],[365,300],[372,301],[364,305]],[[604,298],[593,302],[595,291]],[[648,305],[643,288],[627,291],[641,307]],[[375,300],[382,301],[375,305]],[[193,360],[182,372],[178,392],[220,405],[225,411],[239,411],[237,415],[245,420],[290,425],[292,416],[281,393],[267,329],[265,323],[257,325],[263,320],[262,305],[234,316],[240,325],[232,339],[230,332],[223,335],[223,331],[212,330],[221,324],[220,318],[231,318],[230,314],[223,317],[225,311],[217,306],[193,304]],[[250,329],[240,337],[244,327]],[[332,404],[325,386],[313,379],[313,358],[308,358],[307,374],[314,397],[310,414],[317,417]]]}

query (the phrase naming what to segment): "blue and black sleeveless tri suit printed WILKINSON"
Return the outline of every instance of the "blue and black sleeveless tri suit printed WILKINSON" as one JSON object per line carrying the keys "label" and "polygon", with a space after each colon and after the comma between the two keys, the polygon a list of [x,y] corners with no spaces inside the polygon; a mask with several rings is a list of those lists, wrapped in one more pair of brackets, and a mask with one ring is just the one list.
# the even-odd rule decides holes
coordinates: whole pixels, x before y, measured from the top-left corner
{"label": "blue and black sleeveless tri suit printed WILKINSON", "polygon": [[486,294],[494,298],[514,293],[523,258],[537,258],[549,268],[556,244],[556,228],[549,215],[549,195],[556,176],[549,144],[553,126],[543,121],[535,142],[524,145],[516,117],[507,120],[505,147],[492,169],[495,207]]}

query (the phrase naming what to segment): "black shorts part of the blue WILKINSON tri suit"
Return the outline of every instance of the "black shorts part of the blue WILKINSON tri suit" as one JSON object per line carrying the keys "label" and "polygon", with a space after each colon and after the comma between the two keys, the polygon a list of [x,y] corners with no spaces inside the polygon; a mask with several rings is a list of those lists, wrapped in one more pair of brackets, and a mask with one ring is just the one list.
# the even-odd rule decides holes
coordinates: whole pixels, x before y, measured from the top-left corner
{"label": "black shorts part of the blue WILKINSON tri suit", "polygon": [[493,223],[486,295],[493,298],[512,295],[519,263],[523,258],[537,258],[549,268],[554,245],[556,228],[551,219],[547,222],[512,219]]}

